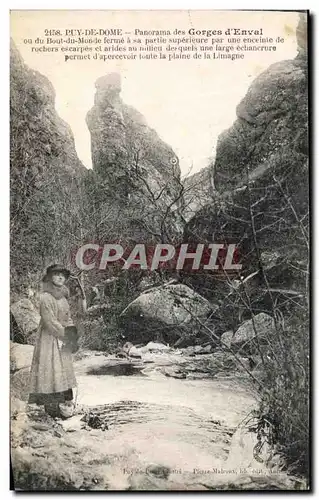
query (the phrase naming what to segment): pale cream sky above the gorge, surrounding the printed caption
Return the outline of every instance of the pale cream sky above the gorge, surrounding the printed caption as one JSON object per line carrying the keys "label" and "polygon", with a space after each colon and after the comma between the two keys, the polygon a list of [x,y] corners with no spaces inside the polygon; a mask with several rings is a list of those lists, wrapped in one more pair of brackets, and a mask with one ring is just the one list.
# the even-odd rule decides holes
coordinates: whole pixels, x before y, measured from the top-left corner
{"label": "pale cream sky above the gorge, surrounding the printed caption", "polygon": [[[297,55],[295,12],[266,11],[11,11],[11,36],[25,63],[47,76],[56,91],[56,110],[70,126],[80,160],[92,168],[85,117],[94,104],[97,78],[122,76],[121,97],[175,151],[183,175],[214,157],[218,136],[236,119],[236,106],[249,85],[271,64]],[[196,30],[263,28],[284,38],[274,52],[245,52],[243,60],[68,61],[61,53],[32,53],[25,40],[45,29],[122,28]],[[227,37],[224,36],[224,39]],[[35,45],[33,45],[35,46]],[[40,44],[41,46],[41,44]]]}

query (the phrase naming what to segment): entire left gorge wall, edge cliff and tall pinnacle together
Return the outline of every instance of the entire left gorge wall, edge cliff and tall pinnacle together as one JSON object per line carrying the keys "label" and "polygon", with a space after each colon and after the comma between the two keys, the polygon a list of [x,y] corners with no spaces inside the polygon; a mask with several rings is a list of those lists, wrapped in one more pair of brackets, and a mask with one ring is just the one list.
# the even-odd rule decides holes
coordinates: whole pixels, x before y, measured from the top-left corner
{"label": "entire left gorge wall, edge cliff and tall pinnacle together", "polygon": [[[174,151],[120,98],[118,75],[96,83],[87,122],[93,170],[79,160],[55,91],[14,43],[10,60],[11,284],[19,295],[83,242],[171,241],[182,232]],[[169,206],[169,208],[167,208]]]}

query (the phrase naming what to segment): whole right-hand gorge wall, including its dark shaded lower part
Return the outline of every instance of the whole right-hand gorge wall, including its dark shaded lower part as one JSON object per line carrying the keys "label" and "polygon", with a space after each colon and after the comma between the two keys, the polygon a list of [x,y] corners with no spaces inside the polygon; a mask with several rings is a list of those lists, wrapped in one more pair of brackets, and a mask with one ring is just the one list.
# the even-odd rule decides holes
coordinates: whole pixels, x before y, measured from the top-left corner
{"label": "whole right-hand gorge wall, including its dark shaded lower part", "polygon": [[[237,107],[237,120],[218,140],[211,172],[214,198],[184,231],[185,241],[237,243],[243,274],[258,272],[259,294],[263,286],[289,293],[307,288],[306,39],[301,14],[298,55],[270,66],[248,89]],[[192,284],[220,298],[222,278],[205,275]],[[229,286],[224,288],[222,294],[228,294]]]}

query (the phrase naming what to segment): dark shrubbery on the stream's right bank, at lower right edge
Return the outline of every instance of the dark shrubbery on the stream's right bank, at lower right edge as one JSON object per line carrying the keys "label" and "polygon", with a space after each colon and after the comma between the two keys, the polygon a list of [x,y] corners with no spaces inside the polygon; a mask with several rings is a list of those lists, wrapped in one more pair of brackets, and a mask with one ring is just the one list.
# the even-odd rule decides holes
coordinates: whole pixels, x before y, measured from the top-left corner
{"label": "dark shrubbery on the stream's right bank, at lower right edge", "polygon": [[[280,323],[280,322],[279,322]],[[279,324],[273,355],[264,356],[258,378],[259,425],[269,425],[270,444],[278,445],[290,471],[309,471],[309,318],[295,314]]]}

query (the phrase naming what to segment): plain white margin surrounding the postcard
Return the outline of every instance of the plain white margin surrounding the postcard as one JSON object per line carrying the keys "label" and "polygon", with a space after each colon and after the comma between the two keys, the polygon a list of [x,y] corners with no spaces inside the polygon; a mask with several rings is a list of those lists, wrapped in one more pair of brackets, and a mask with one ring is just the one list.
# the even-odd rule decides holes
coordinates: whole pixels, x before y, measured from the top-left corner
{"label": "plain white margin surrounding the postcard", "polygon": [[[307,2],[301,1],[290,1],[285,2],[283,0],[268,0],[267,2],[256,2],[256,1],[204,1],[204,0],[157,0],[152,2],[142,1],[142,0],[90,0],[89,2],[81,1],[81,0],[55,0],[43,2],[43,0],[33,0],[33,1],[19,1],[19,0],[11,0],[11,1],[3,1],[0,6],[0,34],[2,37],[1,45],[0,45],[0,68],[1,68],[1,90],[0,96],[2,99],[1,109],[1,194],[0,194],[0,225],[1,225],[1,276],[2,276],[2,286],[0,292],[0,307],[1,307],[1,341],[2,346],[0,349],[1,360],[1,397],[2,404],[0,406],[0,453],[1,453],[1,469],[0,469],[0,492],[1,499],[3,498],[11,498],[13,493],[9,492],[9,9],[18,10],[18,9],[39,9],[39,10],[55,10],[55,9],[74,9],[74,10],[305,10],[309,9],[310,12],[316,16],[318,15],[319,7],[318,2],[311,0]],[[316,27],[316,30],[314,29]],[[315,125],[318,122],[318,67],[315,65],[315,59],[318,58],[318,24],[316,19],[313,20],[313,36],[314,36],[314,47],[312,50],[312,54],[314,56],[314,60],[312,62],[313,72],[312,75],[313,82],[313,97],[312,103],[314,104],[313,113],[313,123],[312,127],[315,129]],[[315,57],[316,55],[316,57]],[[316,131],[316,129],[315,129]],[[317,291],[317,287],[319,285],[319,267],[316,265],[316,255],[317,255],[317,237],[319,234],[319,186],[318,186],[318,175],[316,175],[316,170],[319,168],[318,165],[318,141],[316,140],[315,131],[312,133],[312,137],[315,140],[314,145],[314,158],[312,164],[313,170],[313,185],[312,185],[312,198],[313,198],[313,248],[312,248],[312,261],[313,261],[313,347],[315,348],[315,352],[312,355],[313,360],[313,388],[312,395],[314,398],[313,401],[313,415],[316,417],[319,414],[318,408],[318,397],[315,397],[315,389],[318,389],[318,370],[316,368],[316,360],[318,359],[318,342],[316,340],[317,334],[317,321],[316,321],[316,311],[319,311],[319,298],[315,293]],[[316,488],[316,477],[318,477],[318,462],[315,460],[315,450],[318,449],[318,432],[315,428],[315,423],[313,425],[314,431],[314,456],[313,456],[313,483],[314,488]],[[314,466],[316,465],[316,469]],[[256,492],[258,493],[258,492]],[[43,494],[44,496],[45,494]],[[52,494],[51,494],[52,495]],[[61,496],[65,496],[66,494],[59,494]],[[83,493],[81,493],[81,496]],[[183,495],[179,493],[179,496]],[[195,495],[195,493],[194,493]],[[216,493],[214,492],[214,496]],[[218,493],[217,493],[218,495]],[[113,497],[113,494],[108,493],[108,497]],[[230,496],[226,494],[226,497]],[[299,496],[299,495],[298,495]],[[41,498],[42,495],[37,494],[38,498]],[[145,497],[145,495],[143,495]],[[187,495],[189,498],[189,495]],[[225,498],[225,494],[223,494]],[[274,495],[271,494],[271,497],[274,498]]]}

